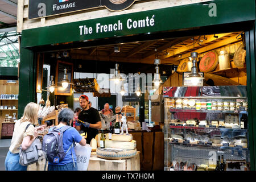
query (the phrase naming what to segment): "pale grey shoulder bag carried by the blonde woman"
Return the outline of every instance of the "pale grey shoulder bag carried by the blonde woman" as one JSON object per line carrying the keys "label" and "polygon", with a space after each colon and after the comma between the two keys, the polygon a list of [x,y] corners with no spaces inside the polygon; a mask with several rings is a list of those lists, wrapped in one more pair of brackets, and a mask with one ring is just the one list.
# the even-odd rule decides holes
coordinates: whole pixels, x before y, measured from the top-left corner
{"label": "pale grey shoulder bag carried by the blonde woman", "polygon": [[[26,130],[28,128],[28,124]],[[26,131],[25,130],[25,131]],[[42,143],[40,142],[40,137],[37,137],[31,144],[27,150],[22,150],[20,147],[19,151],[19,164],[22,166],[28,166],[30,164],[34,164],[38,162],[39,159],[44,158],[43,150],[42,150]]]}

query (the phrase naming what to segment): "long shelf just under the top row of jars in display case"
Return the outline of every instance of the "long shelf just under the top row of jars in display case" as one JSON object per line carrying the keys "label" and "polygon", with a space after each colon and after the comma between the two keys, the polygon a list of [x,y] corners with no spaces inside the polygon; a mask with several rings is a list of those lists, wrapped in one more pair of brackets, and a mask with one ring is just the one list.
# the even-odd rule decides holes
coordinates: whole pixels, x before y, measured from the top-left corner
{"label": "long shelf just under the top row of jars in display case", "polygon": [[196,110],[196,109],[169,109],[171,113],[226,113],[226,114],[248,114],[246,110]]}

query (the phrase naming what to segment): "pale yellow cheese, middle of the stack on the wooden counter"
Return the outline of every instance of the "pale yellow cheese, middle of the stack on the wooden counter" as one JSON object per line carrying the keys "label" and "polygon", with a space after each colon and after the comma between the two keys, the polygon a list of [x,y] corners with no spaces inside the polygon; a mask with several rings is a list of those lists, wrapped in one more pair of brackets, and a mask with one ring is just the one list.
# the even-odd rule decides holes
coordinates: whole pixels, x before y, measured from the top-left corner
{"label": "pale yellow cheese, middle of the stack on the wooden counter", "polygon": [[123,148],[134,150],[136,148],[136,141],[131,140],[130,142],[122,142],[122,141],[113,141],[113,140],[105,140],[106,148]]}

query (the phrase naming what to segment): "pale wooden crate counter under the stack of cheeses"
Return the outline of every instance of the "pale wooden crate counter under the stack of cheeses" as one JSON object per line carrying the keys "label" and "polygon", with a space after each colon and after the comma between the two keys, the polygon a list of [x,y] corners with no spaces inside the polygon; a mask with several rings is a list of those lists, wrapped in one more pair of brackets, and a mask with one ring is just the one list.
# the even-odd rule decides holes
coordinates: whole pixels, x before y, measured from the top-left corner
{"label": "pale wooden crate counter under the stack of cheeses", "polygon": [[96,152],[92,152],[87,171],[140,171],[140,153],[137,151],[130,159],[109,160],[98,158]]}

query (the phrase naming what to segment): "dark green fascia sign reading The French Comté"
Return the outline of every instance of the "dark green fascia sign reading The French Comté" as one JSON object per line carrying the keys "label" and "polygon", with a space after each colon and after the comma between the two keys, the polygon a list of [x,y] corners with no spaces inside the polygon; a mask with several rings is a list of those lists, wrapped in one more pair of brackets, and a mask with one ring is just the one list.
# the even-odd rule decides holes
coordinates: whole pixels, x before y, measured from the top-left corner
{"label": "dark green fascia sign reading The French Comt\u00e9", "polygon": [[255,1],[218,0],[22,31],[22,47],[255,20]]}

